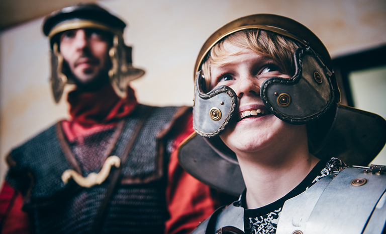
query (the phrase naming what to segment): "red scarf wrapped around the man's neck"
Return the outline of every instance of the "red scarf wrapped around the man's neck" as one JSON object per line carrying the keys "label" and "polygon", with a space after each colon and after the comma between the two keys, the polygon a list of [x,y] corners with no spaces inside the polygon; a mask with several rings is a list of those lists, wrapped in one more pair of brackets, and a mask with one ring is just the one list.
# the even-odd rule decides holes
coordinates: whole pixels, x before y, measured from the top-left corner
{"label": "red scarf wrapped around the man's neck", "polygon": [[137,105],[133,89],[128,87],[127,98],[122,99],[110,84],[94,92],[71,91],[67,101],[71,120],[62,121],[62,127],[69,141],[115,127]]}

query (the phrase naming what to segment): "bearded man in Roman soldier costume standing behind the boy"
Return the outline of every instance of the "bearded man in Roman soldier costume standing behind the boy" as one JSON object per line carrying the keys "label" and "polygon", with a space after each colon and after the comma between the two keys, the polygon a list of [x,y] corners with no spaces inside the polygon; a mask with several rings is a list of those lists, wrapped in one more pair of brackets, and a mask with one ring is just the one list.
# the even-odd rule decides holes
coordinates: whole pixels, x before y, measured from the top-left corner
{"label": "bearded man in Roman soldier costume standing behind the boy", "polygon": [[144,71],[132,66],[125,27],[92,4],[45,19],[54,100],[76,86],[71,119],[7,157],[3,233],[185,233],[219,206],[177,163],[176,148],[193,131],[190,109],[137,103],[129,81]]}

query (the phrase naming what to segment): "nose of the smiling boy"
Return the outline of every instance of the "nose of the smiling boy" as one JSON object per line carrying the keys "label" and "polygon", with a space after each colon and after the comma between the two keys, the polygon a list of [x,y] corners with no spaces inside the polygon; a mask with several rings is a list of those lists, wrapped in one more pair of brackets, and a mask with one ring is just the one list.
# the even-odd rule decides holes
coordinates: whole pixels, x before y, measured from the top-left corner
{"label": "nose of the smiling boy", "polygon": [[260,96],[260,85],[256,77],[251,74],[240,77],[239,81],[234,87],[234,91],[238,98],[243,95],[258,95]]}

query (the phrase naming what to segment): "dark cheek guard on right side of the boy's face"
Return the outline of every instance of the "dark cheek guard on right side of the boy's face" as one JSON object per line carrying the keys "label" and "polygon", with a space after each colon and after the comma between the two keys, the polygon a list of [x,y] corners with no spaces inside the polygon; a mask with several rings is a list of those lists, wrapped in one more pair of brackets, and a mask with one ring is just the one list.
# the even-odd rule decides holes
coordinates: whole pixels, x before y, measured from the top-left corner
{"label": "dark cheek guard on right side of the boy's face", "polygon": [[277,118],[291,124],[305,124],[322,117],[335,103],[332,72],[309,48],[296,50],[295,65],[292,79],[265,80],[260,96]]}

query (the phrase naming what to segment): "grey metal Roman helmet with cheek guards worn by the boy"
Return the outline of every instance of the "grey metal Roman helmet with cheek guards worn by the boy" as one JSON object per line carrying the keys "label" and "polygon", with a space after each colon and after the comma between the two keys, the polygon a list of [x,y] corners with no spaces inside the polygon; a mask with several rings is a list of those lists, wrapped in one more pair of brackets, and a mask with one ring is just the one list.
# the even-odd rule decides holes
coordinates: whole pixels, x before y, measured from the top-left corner
{"label": "grey metal Roman helmet with cheek guards worn by the boy", "polygon": [[270,31],[301,45],[294,54],[295,75],[291,79],[269,77],[260,86],[266,108],[287,123],[307,124],[310,151],[316,157],[337,157],[348,165],[369,164],[386,142],[386,121],[376,114],[340,104],[330,54],[310,29],[286,17],[257,14],[218,29],[199,53],[194,76],[196,132],[179,146],[182,167],[224,192],[239,195],[245,188],[235,153],[219,137],[235,117],[237,96],[227,86],[208,89],[201,70],[214,45],[245,29]]}

